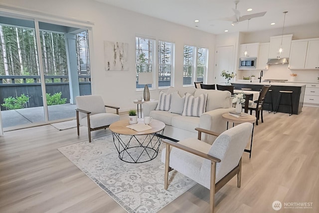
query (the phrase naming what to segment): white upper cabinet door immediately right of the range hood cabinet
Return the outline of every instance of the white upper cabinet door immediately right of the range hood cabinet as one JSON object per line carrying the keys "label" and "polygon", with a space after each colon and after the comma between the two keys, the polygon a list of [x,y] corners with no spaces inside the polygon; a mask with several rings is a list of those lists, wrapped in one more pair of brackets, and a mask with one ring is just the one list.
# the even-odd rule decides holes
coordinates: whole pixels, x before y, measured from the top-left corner
{"label": "white upper cabinet door immediately right of the range hood cabinet", "polygon": [[293,40],[291,42],[289,69],[304,69],[306,62],[308,40]]}

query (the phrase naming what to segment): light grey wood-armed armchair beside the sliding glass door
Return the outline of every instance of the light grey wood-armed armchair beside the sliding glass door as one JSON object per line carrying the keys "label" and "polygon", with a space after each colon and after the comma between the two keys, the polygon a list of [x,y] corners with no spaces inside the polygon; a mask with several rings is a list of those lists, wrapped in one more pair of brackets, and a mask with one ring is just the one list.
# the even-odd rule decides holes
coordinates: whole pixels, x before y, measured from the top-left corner
{"label": "light grey wood-armed armchair beside the sliding glass door", "polygon": [[[105,107],[116,109],[116,114],[107,113]],[[91,143],[92,131],[106,129],[120,120],[119,109],[119,107],[105,105],[100,95],[77,96],[75,110],[78,135],[80,135],[80,125],[86,126]]]}

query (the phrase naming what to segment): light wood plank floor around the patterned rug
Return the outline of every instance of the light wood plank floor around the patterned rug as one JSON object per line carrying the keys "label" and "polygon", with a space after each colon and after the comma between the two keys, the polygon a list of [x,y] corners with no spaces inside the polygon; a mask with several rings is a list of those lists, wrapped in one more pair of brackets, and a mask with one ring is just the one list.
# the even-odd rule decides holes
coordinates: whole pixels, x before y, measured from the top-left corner
{"label": "light wood plank floor around the patterned rug", "polygon": [[[265,111],[264,122],[255,126],[252,158],[243,155],[241,188],[236,178],[224,186],[215,213],[271,213],[276,200],[313,203],[312,210],[279,212],[319,212],[319,108],[290,117]],[[0,213],[125,213],[57,150],[86,141],[86,129],[80,132],[45,125],[0,137]],[[106,134],[99,130],[93,137]],[[208,196],[196,185],[160,213],[206,213]]]}

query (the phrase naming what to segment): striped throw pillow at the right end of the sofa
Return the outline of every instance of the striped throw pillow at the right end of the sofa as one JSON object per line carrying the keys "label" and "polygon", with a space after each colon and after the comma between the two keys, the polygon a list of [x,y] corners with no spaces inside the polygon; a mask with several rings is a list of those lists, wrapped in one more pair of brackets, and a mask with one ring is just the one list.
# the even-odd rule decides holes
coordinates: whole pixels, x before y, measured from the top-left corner
{"label": "striped throw pillow at the right end of the sofa", "polygon": [[206,112],[207,93],[203,93],[194,98],[193,95],[186,93],[182,115],[199,117]]}

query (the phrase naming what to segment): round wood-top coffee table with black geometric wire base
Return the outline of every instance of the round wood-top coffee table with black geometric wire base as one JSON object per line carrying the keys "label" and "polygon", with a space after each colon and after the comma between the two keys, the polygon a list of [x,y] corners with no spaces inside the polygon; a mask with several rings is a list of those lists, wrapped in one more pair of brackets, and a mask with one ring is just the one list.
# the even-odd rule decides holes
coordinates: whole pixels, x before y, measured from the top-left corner
{"label": "round wood-top coffee table with black geometric wire base", "polygon": [[[139,123],[143,122],[139,120]],[[120,120],[109,127],[119,158],[127,163],[144,163],[156,158],[165,124],[153,119],[149,124],[152,129],[142,132],[128,128],[129,125],[128,120]]]}

